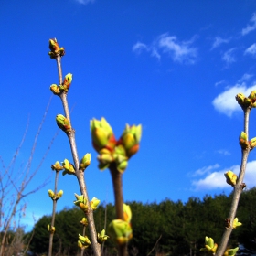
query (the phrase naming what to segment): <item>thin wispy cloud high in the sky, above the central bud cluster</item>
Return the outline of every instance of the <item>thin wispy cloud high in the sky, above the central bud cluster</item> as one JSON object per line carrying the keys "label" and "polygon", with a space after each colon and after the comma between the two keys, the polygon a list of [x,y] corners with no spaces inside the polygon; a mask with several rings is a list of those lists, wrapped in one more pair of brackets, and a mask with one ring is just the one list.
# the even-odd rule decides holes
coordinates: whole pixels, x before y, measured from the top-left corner
{"label": "thin wispy cloud high in the sky, above the central bud cluster", "polygon": [[158,60],[162,55],[167,54],[173,61],[193,64],[197,59],[197,48],[192,47],[193,42],[194,38],[189,41],[179,41],[176,36],[169,36],[165,33],[149,45],[137,42],[133,45],[133,51],[140,54],[145,50]]}

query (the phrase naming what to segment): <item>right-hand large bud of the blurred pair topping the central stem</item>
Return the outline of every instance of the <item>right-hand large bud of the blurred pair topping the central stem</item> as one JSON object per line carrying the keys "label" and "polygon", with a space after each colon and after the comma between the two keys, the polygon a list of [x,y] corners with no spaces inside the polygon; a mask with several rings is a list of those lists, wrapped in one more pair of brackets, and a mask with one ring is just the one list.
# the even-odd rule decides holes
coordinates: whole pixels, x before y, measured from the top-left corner
{"label": "right-hand large bud of the blurred pair topping the central stem", "polygon": [[139,143],[142,137],[142,125],[132,125],[126,124],[123,131],[122,137],[120,139],[121,144],[123,144],[126,153],[129,157],[136,154],[139,150]]}

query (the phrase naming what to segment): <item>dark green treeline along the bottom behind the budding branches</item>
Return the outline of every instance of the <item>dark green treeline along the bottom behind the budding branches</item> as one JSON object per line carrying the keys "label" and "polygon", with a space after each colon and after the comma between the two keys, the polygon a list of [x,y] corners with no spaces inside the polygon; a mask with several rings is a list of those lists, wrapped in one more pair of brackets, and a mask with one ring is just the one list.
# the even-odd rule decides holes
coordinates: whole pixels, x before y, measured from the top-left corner
{"label": "dark green treeline along the bottom behind the budding branches", "polygon": [[[230,202],[231,195],[205,196],[203,199],[190,197],[187,203],[169,199],[159,204],[127,202],[133,211],[133,240],[129,243],[129,254],[204,255],[199,249],[204,247],[205,236],[212,237],[217,243],[221,240]],[[108,225],[115,218],[112,204],[100,206],[94,213],[99,232],[104,229],[105,213]],[[65,208],[57,214],[53,255],[57,252],[58,255],[79,253],[77,240],[78,234],[82,234],[82,217],[83,213],[79,208]],[[255,250],[252,241],[256,237],[256,188],[242,193],[237,217],[242,226],[232,232],[229,246],[237,247],[240,242]],[[35,225],[30,248],[37,255],[48,251],[49,223],[50,217],[44,216]],[[111,240],[105,242],[103,249],[103,255],[117,255]],[[88,250],[85,255],[92,253]]]}

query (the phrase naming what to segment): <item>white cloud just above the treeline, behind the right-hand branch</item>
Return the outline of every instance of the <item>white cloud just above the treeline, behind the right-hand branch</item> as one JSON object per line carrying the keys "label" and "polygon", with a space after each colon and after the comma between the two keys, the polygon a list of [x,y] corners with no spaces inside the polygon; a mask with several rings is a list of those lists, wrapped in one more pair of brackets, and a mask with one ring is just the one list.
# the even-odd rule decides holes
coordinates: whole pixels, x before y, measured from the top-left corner
{"label": "white cloud just above the treeline, behind the right-hand branch", "polygon": [[[255,169],[256,169],[256,161],[251,161],[247,164],[244,182],[248,188],[255,186],[255,180],[256,180]],[[224,173],[229,170],[231,170],[233,173],[239,176],[240,165],[233,165],[230,168],[223,169],[218,172],[210,173],[205,178],[202,178],[199,180],[193,180],[192,186],[196,190],[208,190],[208,189],[229,187],[229,185],[226,183],[226,178],[224,176]]]}

